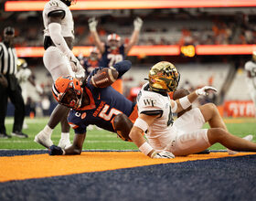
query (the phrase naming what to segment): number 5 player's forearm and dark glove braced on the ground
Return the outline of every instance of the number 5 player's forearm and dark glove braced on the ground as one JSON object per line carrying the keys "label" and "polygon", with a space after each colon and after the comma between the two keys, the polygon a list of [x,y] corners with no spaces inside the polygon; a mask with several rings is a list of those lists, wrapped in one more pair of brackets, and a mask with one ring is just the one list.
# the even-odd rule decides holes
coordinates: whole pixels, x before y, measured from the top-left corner
{"label": "number 5 player's forearm and dark glove braced on the ground", "polygon": [[51,145],[48,149],[49,155],[75,155],[82,151],[82,144],[86,134],[75,134],[73,144],[67,149],[61,149],[59,146]]}

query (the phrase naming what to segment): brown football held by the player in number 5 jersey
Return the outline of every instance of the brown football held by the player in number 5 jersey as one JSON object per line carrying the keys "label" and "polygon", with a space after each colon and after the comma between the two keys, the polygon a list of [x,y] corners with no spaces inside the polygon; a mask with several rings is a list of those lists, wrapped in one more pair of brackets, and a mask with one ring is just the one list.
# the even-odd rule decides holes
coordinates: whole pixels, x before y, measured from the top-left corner
{"label": "brown football held by the player in number 5 jersey", "polygon": [[118,71],[116,69],[104,68],[98,70],[98,72],[91,77],[91,85],[97,88],[105,88],[118,78]]}

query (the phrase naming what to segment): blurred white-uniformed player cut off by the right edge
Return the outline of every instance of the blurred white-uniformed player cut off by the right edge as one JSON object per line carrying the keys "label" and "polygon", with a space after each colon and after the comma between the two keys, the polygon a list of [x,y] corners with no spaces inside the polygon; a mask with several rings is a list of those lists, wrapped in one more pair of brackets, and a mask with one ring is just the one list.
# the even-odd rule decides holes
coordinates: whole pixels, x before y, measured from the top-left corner
{"label": "blurred white-uniformed player cut off by the right edge", "polygon": [[251,100],[255,106],[256,117],[256,51],[252,52],[252,59],[245,63],[244,69],[247,72],[246,83],[248,85],[248,91],[251,96]]}

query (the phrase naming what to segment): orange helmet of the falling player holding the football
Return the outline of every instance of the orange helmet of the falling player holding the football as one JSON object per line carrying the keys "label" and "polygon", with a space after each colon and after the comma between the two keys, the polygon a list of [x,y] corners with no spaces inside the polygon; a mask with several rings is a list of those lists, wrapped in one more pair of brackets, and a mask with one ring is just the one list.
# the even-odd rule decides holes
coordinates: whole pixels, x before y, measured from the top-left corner
{"label": "orange helmet of the falling player holding the football", "polygon": [[54,82],[51,91],[59,104],[72,109],[80,108],[83,90],[78,79],[61,76]]}

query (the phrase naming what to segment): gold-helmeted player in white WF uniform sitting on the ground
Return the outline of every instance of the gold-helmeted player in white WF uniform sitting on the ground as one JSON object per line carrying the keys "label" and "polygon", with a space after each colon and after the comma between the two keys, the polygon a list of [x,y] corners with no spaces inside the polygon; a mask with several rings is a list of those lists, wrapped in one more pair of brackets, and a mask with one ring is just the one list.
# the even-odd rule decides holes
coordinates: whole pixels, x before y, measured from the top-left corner
{"label": "gold-helmeted player in white WF uniform sitting on the ground", "polygon": [[[178,81],[179,73],[169,62],[159,62],[150,70],[149,82],[137,97],[138,118],[129,134],[142,153],[151,158],[174,158],[201,152],[214,143],[230,150],[256,152],[256,143],[228,132],[213,103],[187,111],[174,122],[173,112],[186,110],[198,96],[215,90],[206,86],[179,100],[170,100],[167,93],[176,90]],[[205,122],[210,129],[201,129]]]}

